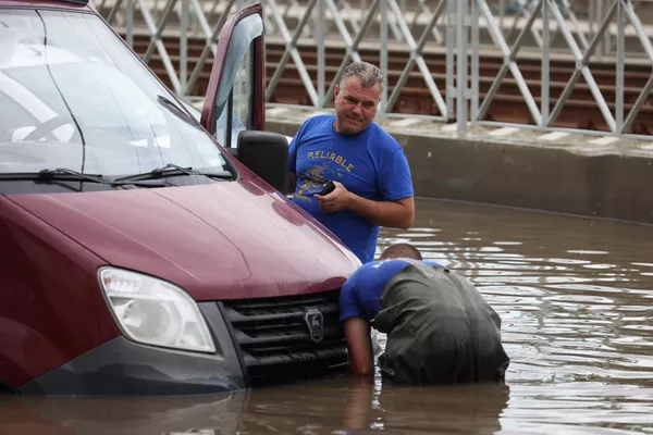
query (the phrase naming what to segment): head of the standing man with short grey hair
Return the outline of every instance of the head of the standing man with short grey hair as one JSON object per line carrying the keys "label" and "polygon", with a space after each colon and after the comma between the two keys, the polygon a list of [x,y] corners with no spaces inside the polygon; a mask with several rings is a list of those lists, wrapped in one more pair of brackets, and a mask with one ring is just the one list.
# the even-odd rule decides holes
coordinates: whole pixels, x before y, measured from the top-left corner
{"label": "head of the standing man with short grey hair", "polygon": [[335,86],[335,130],[353,135],[366,129],[377,115],[383,73],[368,62],[347,65]]}

